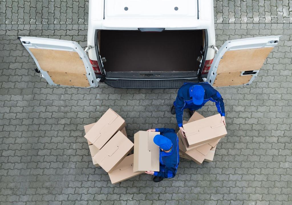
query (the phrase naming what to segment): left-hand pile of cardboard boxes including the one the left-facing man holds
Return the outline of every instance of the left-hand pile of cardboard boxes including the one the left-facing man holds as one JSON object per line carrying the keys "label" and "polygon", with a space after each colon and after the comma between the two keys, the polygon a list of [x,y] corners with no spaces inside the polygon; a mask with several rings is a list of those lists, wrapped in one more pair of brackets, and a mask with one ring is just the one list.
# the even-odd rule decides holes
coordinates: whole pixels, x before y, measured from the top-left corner
{"label": "left-hand pile of cardboard boxes including the one the left-facing man holds", "polygon": [[[159,132],[139,131],[131,142],[125,120],[108,109],[96,122],[84,126],[93,165],[102,167],[111,180],[119,183],[144,171],[159,171],[159,147],[153,138]],[[130,154],[134,148],[134,154]]]}

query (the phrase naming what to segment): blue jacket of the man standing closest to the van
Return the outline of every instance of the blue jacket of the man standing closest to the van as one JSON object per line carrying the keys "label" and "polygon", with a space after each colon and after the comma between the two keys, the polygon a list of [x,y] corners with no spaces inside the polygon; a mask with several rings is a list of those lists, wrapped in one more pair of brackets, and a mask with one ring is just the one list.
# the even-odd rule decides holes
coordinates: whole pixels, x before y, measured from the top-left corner
{"label": "blue jacket of the man standing closest to the van", "polygon": [[[189,89],[193,85],[201,85],[205,90],[204,101],[201,105],[195,105],[190,97]],[[183,126],[183,109],[193,108],[198,110],[205,105],[208,101],[215,102],[218,113],[221,116],[225,116],[225,108],[223,98],[220,93],[215,90],[209,83],[185,83],[178,89],[178,96],[175,99],[175,113],[176,121],[178,122],[178,127]]]}

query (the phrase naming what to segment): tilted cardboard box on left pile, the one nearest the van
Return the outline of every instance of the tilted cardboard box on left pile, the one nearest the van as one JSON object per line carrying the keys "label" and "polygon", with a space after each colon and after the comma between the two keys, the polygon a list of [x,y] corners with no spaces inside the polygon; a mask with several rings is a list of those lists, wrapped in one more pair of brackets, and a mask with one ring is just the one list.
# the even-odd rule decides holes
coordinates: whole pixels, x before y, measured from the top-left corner
{"label": "tilted cardboard box on left pile, the one nearest the van", "polygon": [[122,130],[126,123],[112,109],[108,109],[84,136],[95,147],[101,149],[117,131]]}

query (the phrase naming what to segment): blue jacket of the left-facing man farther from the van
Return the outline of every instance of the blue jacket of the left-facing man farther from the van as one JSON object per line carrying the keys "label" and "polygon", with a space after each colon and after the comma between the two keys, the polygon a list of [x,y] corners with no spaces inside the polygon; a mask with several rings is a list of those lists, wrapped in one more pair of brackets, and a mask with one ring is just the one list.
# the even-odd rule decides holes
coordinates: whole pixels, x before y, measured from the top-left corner
{"label": "blue jacket of the left-facing man farther from the van", "polygon": [[161,135],[164,135],[172,142],[172,149],[170,152],[166,153],[159,149],[159,172],[154,172],[154,176],[163,177],[163,178],[173,178],[178,169],[178,163],[180,161],[180,156],[178,154],[178,136],[175,133],[174,129],[168,128],[156,128],[156,132],[160,132]]}

